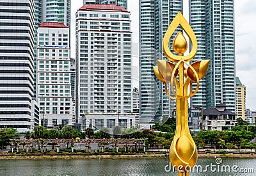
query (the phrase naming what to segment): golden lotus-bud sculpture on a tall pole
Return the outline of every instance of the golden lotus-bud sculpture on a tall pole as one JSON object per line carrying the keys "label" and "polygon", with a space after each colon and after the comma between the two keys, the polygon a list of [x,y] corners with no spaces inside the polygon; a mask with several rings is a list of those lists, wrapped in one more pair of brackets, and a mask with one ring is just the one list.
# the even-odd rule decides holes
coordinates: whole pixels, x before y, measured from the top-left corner
{"label": "golden lotus-bud sculpture on a tall pole", "polygon": [[[186,56],[183,56],[183,54],[188,49],[188,44],[180,31],[173,41],[173,51],[179,55],[173,54],[169,48],[170,38],[179,25],[186,32],[192,44],[192,49]],[[198,91],[199,80],[207,73],[210,63],[210,60],[202,60],[189,64],[189,61],[195,57],[196,51],[195,33],[179,12],[173,19],[172,24],[170,24],[163,40],[163,52],[170,61],[157,60],[157,67],[154,67],[154,72],[159,81],[165,84],[165,92],[168,97],[176,99],[176,131],[170,147],[170,162],[178,170],[178,175],[180,176],[188,176],[189,170],[195,166],[197,161],[196,145],[188,127],[188,98]],[[179,79],[177,78],[178,75]],[[192,88],[193,82],[197,83],[194,92]],[[167,84],[169,83],[175,97],[168,93]]]}

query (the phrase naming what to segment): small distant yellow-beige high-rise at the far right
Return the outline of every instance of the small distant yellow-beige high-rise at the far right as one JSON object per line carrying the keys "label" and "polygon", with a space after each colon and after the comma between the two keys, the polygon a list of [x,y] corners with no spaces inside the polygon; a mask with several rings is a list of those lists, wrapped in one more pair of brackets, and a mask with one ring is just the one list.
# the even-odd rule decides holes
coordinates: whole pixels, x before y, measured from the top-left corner
{"label": "small distant yellow-beige high-rise at the far right", "polygon": [[236,77],[236,116],[246,120],[246,86]]}

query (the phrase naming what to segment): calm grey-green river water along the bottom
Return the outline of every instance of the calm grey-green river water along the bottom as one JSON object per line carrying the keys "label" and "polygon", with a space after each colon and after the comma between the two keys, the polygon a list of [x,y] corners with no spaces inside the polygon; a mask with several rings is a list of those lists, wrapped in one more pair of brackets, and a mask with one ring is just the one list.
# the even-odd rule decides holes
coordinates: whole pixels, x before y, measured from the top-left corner
{"label": "calm grey-green river water along the bottom", "polygon": [[[169,159],[167,157],[141,159],[6,159],[0,160],[0,175],[177,175],[177,172],[173,173],[168,163]],[[256,159],[199,158],[196,165],[198,170],[195,169],[195,172],[190,175],[256,175]],[[202,166],[202,170],[200,170],[200,166]],[[228,167],[230,168],[229,172]]]}

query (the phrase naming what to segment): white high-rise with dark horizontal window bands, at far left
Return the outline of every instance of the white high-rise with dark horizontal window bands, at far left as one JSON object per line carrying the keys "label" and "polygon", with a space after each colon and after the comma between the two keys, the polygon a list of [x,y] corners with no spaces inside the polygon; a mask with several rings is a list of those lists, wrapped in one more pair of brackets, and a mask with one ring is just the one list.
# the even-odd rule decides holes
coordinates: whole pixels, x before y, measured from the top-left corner
{"label": "white high-rise with dark horizontal window bands, at far left", "polygon": [[32,0],[0,1],[0,127],[19,132],[38,125],[32,100],[34,11]]}

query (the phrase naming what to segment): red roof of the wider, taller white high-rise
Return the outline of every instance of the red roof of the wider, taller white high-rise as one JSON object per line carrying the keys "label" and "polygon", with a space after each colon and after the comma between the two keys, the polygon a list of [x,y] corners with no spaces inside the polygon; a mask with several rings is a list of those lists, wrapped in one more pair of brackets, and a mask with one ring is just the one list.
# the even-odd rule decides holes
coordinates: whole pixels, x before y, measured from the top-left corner
{"label": "red roof of the wider, taller white high-rise", "polygon": [[113,4],[84,4],[79,10],[111,10],[119,12],[128,12],[122,6],[116,6]]}

